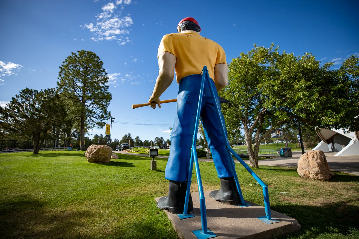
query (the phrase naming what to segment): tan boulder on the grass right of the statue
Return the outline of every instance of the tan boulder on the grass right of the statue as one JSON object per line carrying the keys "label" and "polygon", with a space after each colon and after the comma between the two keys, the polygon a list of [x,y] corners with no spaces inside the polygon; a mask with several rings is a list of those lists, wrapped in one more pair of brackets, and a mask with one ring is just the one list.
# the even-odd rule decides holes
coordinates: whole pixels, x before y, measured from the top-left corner
{"label": "tan boulder on the grass right of the statue", "polygon": [[311,150],[300,156],[297,172],[302,178],[326,181],[334,176],[322,150]]}

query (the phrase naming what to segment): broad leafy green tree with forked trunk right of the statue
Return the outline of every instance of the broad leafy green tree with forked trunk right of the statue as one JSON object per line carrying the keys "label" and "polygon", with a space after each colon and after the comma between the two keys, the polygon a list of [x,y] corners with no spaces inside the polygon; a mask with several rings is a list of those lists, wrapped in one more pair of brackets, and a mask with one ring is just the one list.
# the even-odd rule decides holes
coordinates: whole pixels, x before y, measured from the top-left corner
{"label": "broad leafy green tree with forked trunk right of the statue", "polygon": [[230,101],[222,106],[227,128],[244,130],[250,166],[255,168],[260,142],[283,124],[356,127],[356,58],[335,71],[330,70],[332,63],[321,66],[311,53],[296,57],[278,49],[274,44],[254,45],[232,59],[228,86],[220,92]]}

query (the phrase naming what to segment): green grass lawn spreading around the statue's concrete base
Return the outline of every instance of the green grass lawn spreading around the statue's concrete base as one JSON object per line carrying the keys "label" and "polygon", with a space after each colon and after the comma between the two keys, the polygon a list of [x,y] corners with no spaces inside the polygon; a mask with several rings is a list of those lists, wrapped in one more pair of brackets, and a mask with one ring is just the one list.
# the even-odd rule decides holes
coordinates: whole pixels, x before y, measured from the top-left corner
{"label": "green grass lawn spreading around the statue's concrete base", "polygon": [[[154,200],[168,192],[167,159],[157,158],[151,171],[148,157],[118,156],[91,164],[80,151],[0,154],[1,238],[177,238]],[[302,225],[282,238],[359,238],[359,176],[335,173],[322,182],[293,168],[260,167],[254,171],[269,186],[271,209]],[[214,164],[200,168],[204,190],[219,189]],[[244,198],[263,205],[261,187],[236,168]]]}

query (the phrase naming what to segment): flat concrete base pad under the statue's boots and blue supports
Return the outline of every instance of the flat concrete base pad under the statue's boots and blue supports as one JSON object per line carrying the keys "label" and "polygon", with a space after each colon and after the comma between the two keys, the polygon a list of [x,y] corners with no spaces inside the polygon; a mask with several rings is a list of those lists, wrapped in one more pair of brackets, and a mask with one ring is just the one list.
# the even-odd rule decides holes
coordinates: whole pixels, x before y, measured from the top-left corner
{"label": "flat concrete base pad under the statue's boots and blue supports", "polygon": [[[246,201],[252,205],[249,207],[226,205],[211,198],[209,196],[210,192],[204,192],[207,224],[208,229],[217,235],[216,239],[275,238],[276,236],[293,233],[300,229],[300,224],[297,220],[273,210],[271,210],[272,218],[280,220],[280,222],[266,224],[257,218],[265,216],[264,207],[249,201]],[[199,193],[192,192],[191,195],[193,200],[193,215],[195,217],[181,220],[177,214],[164,210],[168,215],[168,219],[172,222],[174,229],[177,231],[178,236],[182,239],[196,239],[192,231],[202,228]],[[159,198],[156,197],[155,200],[158,201]]]}

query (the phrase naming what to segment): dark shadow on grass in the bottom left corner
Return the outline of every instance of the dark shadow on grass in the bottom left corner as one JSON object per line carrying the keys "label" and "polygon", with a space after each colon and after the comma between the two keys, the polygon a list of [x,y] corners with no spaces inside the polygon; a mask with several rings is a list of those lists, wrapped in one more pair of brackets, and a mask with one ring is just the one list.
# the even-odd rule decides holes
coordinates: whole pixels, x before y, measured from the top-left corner
{"label": "dark shadow on grass in the bottom left corner", "polygon": [[46,202],[20,196],[0,202],[1,238],[88,238],[79,228],[95,214],[47,208]]}

